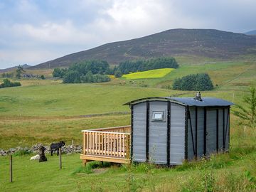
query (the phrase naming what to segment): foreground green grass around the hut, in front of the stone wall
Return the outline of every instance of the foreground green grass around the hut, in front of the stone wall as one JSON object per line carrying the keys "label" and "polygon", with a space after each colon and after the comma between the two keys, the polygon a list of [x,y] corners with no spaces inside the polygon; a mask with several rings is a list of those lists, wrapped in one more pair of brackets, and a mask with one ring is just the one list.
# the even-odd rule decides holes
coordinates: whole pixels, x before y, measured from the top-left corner
{"label": "foreground green grass around the hut, in front of the stone wall", "polygon": [[9,159],[1,157],[0,191],[129,191],[129,183],[130,191],[256,191],[256,132],[231,127],[229,154],[173,169],[150,164],[91,169],[94,162],[83,169],[78,154],[64,154],[59,170],[57,156],[46,154],[43,163],[14,156],[14,182],[9,183]]}

